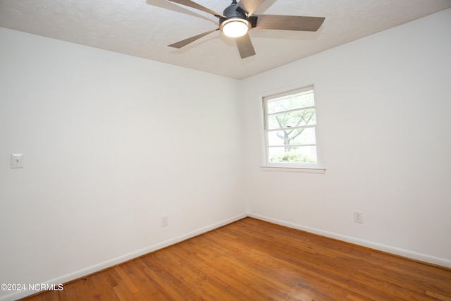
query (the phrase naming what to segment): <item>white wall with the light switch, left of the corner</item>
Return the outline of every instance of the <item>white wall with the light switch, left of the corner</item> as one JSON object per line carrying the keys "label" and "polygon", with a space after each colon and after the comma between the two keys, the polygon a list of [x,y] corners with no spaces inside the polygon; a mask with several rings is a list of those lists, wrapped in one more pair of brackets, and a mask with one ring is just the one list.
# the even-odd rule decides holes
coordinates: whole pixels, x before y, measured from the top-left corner
{"label": "white wall with the light switch, left of the corner", "polygon": [[245,215],[236,80],[4,28],[0,44],[0,283],[68,281]]}

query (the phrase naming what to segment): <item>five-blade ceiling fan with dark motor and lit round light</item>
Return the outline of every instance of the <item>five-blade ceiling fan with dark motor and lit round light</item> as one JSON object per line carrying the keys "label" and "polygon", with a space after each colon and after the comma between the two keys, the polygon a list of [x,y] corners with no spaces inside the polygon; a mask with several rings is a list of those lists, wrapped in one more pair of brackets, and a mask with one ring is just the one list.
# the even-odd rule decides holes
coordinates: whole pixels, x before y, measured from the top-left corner
{"label": "five-blade ceiling fan with dark motor and lit round light", "polygon": [[182,48],[201,37],[209,35],[211,32],[221,30],[224,35],[235,38],[241,59],[255,54],[251,39],[247,32],[252,28],[269,30],[297,30],[297,31],[316,31],[324,22],[323,17],[305,17],[305,16],[279,16],[279,15],[253,15],[254,11],[263,3],[264,0],[236,0],[228,6],[223,13],[216,13],[191,0],[168,0],[177,4],[182,4],[192,8],[199,9],[206,13],[211,13],[219,18],[219,28],[203,32],[200,35],[194,35],[180,42],[168,45],[169,47]]}

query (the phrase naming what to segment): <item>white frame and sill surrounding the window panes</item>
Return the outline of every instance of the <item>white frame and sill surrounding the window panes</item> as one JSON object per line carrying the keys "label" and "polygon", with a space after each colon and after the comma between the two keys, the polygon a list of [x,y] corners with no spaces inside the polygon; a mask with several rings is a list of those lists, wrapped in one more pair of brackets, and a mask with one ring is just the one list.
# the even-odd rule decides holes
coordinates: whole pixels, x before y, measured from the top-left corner
{"label": "white frame and sill surrounding the window panes", "polygon": [[[290,95],[302,92],[302,90],[307,91],[314,90],[314,106],[316,115],[316,124],[308,125],[308,127],[315,128],[315,138],[316,138],[316,164],[307,163],[278,163],[270,162],[268,159],[268,129],[266,125],[268,124],[268,113],[267,113],[267,101],[268,99],[281,97],[284,95]],[[303,172],[303,173],[325,173],[326,168],[324,167],[323,161],[323,149],[321,140],[321,122],[319,113],[319,101],[318,101],[317,85],[315,83],[309,83],[307,85],[296,85],[293,87],[285,87],[279,90],[274,90],[271,92],[266,92],[259,95],[259,106],[261,108],[261,149],[262,149],[262,164],[261,169],[263,171],[290,171],[290,172]]]}

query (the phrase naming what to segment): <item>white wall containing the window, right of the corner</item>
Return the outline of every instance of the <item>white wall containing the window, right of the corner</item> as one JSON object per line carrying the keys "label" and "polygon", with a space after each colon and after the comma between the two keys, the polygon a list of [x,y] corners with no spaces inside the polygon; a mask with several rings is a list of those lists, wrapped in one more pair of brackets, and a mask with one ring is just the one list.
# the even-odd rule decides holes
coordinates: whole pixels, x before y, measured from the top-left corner
{"label": "white wall containing the window, right of the corner", "polygon": [[[450,30],[448,9],[242,80],[249,213],[451,267]],[[326,173],[261,171],[257,95],[312,80]]]}

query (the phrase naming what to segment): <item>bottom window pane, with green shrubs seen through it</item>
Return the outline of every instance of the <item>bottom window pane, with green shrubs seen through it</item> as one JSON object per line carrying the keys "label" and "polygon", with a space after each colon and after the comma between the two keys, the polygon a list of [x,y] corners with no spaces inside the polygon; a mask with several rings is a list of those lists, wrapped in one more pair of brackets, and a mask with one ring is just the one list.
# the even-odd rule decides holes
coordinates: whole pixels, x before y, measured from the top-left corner
{"label": "bottom window pane, with green shrubs seen through it", "polygon": [[318,163],[316,147],[269,147],[268,153],[273,163]]}

